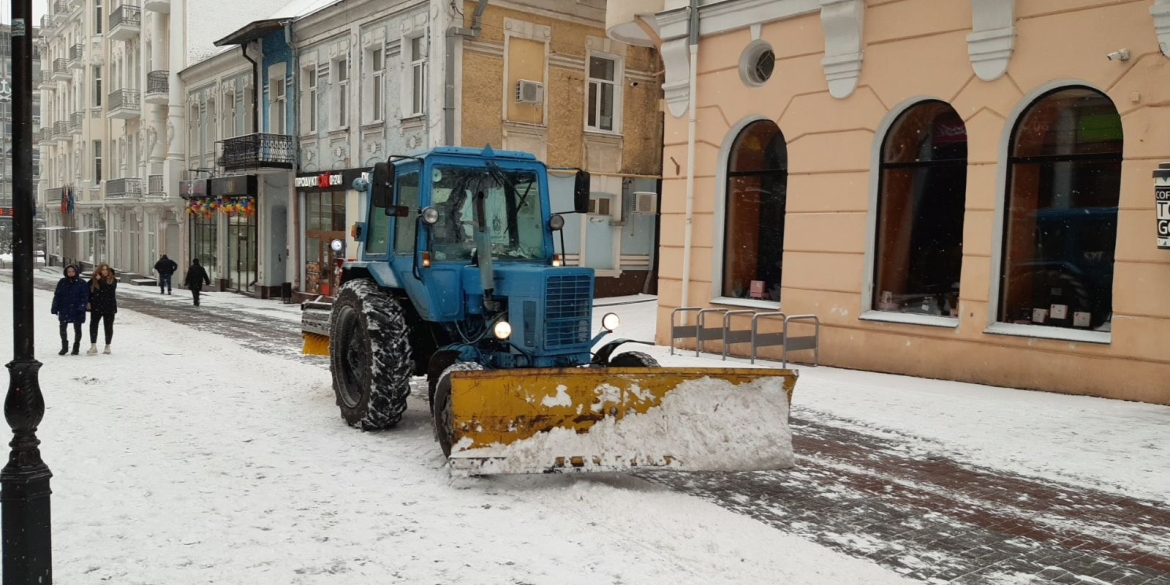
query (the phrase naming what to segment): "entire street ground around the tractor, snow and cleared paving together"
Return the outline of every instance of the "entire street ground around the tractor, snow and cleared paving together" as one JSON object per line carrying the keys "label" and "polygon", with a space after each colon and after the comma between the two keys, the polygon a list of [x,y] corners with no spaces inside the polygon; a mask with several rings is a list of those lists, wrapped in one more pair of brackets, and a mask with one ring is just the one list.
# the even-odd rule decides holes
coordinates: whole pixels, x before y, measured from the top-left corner
{"label": "entire street ground around the tractor, snow and cleared paving together", "polygon": [[450,480],[425,399],[345,426],[295,305],[119,292],[97,357],[36,292],[56,583],[1170,583],[1170,407],[800,367],[791,472]]}

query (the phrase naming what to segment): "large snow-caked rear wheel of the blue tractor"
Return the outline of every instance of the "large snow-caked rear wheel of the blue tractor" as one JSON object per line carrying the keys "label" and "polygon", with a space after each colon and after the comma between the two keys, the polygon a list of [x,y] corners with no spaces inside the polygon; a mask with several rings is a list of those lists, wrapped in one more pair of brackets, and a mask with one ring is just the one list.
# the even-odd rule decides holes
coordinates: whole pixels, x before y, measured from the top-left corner
{"label": "large snow-caked rear wheel of the blue tractor", "polygon": [[329,370],[342,418],[363,431],[393,427],[411,395],[402,309],[367,280],[346,282],[333,303]]}

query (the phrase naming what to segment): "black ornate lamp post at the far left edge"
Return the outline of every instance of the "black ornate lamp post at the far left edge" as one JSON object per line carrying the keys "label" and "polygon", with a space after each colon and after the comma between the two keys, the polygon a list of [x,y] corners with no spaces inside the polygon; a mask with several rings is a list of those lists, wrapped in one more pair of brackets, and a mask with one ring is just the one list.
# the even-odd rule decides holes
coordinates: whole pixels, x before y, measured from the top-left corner
{"label": "black ornate lamp post at the far left edge", "polygon": [[12,0],[13,347],[4,415],[12,453],[0,470],[2,585],[53,583],[49,467],[36,427],[44,417],[33,345],[33,0]]}

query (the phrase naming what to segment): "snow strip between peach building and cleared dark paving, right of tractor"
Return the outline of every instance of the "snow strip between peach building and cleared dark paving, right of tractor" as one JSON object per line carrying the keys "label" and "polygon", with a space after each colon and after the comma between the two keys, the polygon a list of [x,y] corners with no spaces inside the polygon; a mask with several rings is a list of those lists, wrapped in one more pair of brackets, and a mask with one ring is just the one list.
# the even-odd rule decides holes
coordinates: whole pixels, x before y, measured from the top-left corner
{"label": "snow strip between peach building and cleared dark paving, right of tractor", "polygon": [[[638,302],[642,301],[642,302]],[[625,304],[631,303],[632,304]],[[601,298],[617,312],[615,336],[653,340],[653,297]],[[594,319],[597,321],[597,319]],[[718,351],[717,342],[708,351]],[[662,365],[750,367],[745,359],[662,346],[640,347]],[[796,353],[793,357],[800,358]],[[758,367],[779,367],[757,360]],[[1170,406],[1000,388],[976,384],[807,367],[792,414],[863,434],[908,440],[907,448],[1026,476],[1170,503]]]}

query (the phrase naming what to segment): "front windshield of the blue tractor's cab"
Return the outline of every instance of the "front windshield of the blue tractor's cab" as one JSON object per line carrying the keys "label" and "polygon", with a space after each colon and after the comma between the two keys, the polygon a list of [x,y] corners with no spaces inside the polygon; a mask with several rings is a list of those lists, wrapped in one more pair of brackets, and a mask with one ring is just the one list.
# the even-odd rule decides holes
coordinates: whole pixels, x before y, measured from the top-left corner
{"label": "front windshield of the blue tractor's cab", "polygon": [[[491,239],[494,260],[544,260],[544,214],[535,171],[435,166],[431,205],[439,211],[432,227],[436,261],[470,261],[480,225]],[[483,206],[476,199],[483,199]],[[479,216],[477,209],[483,209]]]}

